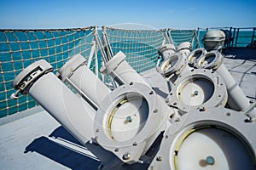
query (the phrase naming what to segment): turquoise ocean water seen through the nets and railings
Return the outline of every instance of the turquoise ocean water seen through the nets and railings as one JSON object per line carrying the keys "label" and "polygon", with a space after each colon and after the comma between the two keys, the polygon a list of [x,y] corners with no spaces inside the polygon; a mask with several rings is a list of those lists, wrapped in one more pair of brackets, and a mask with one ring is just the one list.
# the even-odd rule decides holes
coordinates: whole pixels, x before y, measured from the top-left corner
{"label": "turquoise ocean water seen through the nets and railings", "polygon": [[[200,32],[200,42],[205,32]],[[240,47],[247,47],[252,40],[253,31],[241,31],[240,33],[242,37],[238,38],[237,44]],[[99,31],[99,34],[101,34],[101,31]],[[124,37],[126,32],[116,32],[114,34]],[[122,49],[127,54],[127,61],[138,72],[154,68],[158,60],[157,48],[163,40],[155,34],[151,35],[152,37],[142,39],[143,37],[129,32],[126,37],[132,38],[126,38],[125,40],[113,38],[110,41],[112,42],[113,54]],[[182,41],[175,37],[173,40],[177,43]],[[55,72],[74,54],[89,56],[92,41],[91,30],[0,31],[0,117],[12,115],[38,105],[28,95],[22,95],[19,99],[10,99],[10,95],[15,93],[11,83],[26,66],[38,59],[45,59],[54,67]],[[201,47],[203,47],[202,43]],[[101,54],[99,52],[97,54],[98,63],[101,63]],[[94,59],[90,69],[94,71],[95,67],[96,60]],[[105,82],[109,82],[109,77],[106,77]]]}

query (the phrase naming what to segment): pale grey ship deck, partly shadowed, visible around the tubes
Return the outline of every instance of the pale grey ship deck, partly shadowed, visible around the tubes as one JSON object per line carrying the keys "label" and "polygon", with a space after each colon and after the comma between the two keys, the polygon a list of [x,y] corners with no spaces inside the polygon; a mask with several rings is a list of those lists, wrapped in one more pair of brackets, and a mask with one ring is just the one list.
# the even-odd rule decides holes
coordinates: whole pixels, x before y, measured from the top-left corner
{"label": "pale grey ship deck, partly shadowed, visible around the tubes", "polygon": [[[255,50],[254,50],[255,51]],[[230,51],[230,53],[233,53]],[[255,54],[255,52],[254,52]],[[242,54],[241,54],[242,55]],[[256,56],[227,56],[224,64],[250,99],[256,96]],[[234,57],[234,56],[233,56]],[[165,79],[153,69],[143,77],[166,97]],[[57,139],[52,136],[58,137]],[[49,114],[36,107],[0,119],[1,169],[97,169],[100,161]]]}

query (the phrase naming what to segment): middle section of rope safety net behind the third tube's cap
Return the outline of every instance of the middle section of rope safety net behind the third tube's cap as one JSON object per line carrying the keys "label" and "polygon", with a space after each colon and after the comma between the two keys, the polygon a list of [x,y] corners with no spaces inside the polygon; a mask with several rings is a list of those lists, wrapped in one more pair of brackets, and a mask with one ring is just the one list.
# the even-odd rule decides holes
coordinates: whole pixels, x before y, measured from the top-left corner
{"label": "middle section of rope safety net behind the third tube's cap", "polygon": [[164,41],[162,31],[123,30],[105,27],[113,55],[122,51],[126,61],[138,72],[156,66],[158,48]]}

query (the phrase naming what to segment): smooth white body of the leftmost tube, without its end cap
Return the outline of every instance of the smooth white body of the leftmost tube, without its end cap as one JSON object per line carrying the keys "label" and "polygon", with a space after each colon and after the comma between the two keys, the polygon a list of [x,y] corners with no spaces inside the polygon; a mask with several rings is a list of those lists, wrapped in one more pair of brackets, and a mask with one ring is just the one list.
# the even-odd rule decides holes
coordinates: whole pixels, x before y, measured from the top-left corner
{"label": "smooth white body of the leftmost tube, without its end cap", "polygon": [[65,127],[69,133],[85,144],[94,136],[96,111],[67,88],[52,72],[32,84],[28,94]]}

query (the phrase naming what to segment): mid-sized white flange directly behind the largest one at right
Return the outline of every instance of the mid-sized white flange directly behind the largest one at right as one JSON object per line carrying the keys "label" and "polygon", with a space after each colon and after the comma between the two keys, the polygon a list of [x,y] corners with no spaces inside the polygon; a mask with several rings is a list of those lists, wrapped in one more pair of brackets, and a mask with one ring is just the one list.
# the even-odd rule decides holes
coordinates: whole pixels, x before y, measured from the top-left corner
{"label": "mid-sized white flange directly behind the largest one at right", "polygon": [[216,72],[195,69],[178,77],[166,103],[186,113],[194,109],[224,107],[227,97],[225,83]]}

